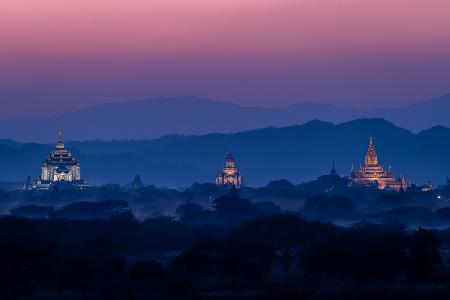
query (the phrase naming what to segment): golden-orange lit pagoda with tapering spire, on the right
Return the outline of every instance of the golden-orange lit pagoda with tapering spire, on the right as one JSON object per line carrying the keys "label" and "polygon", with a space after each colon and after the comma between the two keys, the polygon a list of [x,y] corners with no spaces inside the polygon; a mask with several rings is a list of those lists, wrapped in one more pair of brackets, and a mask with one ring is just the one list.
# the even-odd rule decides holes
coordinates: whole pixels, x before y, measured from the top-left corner
{"label": "golden-orange lit pagoda with tapering spire, on the right", "polygon": [[350,179],[355,184],[376,185],[379,189],[392,189],[399,191],[401,188],[407,189],[409,183],[404,178],[395,178],[391,167],[386,171],[378,161],[373,138],[370,136],[369,148],[367,149],[364,164],[361,165],[359,172],[352,166]]}

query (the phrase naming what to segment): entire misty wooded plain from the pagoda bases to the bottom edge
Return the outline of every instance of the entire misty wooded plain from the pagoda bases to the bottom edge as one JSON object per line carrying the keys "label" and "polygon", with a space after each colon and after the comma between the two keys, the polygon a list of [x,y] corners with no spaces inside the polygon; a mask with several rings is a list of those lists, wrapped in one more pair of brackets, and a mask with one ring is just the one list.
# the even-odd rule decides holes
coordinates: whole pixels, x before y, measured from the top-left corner
{"label": "entire misty wooded plain from the pagoda bases to the bottom edge", "polygon": [[2,191],[1,299],[447,299],[450,185]]}

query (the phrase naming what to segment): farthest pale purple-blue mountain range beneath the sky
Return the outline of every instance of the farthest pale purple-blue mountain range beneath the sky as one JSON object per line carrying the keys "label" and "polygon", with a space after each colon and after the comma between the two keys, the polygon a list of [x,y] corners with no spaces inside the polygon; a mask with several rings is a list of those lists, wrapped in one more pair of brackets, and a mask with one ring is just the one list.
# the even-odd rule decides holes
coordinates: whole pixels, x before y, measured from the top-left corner
{"label": "farthest pale purple-blue mountain range beneath the sky", "polygon": [[0,122],[0,138],[52,142],[61,127],[71,140],[154,139],[164,135],[233,133],[263,127],[285,127],[311,120],[341,123],[385,118],[419,132],[436,125],[450,127],[450,94],[401,108],[361,111],[329,104],[298,103],[288,107],[243,107],[195,97],[157,98],[103,104],[62,115]]}

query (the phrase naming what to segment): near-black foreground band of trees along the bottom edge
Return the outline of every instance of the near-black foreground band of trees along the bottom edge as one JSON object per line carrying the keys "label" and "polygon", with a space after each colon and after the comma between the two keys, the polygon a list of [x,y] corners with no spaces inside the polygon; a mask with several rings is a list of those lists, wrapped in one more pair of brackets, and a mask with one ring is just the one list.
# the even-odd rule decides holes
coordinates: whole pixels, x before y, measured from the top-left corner
{"label": "near-black foreground band of trees along the bottom edge", "polygon": [[449,230],[0,219],[1,299],[448,299]]}

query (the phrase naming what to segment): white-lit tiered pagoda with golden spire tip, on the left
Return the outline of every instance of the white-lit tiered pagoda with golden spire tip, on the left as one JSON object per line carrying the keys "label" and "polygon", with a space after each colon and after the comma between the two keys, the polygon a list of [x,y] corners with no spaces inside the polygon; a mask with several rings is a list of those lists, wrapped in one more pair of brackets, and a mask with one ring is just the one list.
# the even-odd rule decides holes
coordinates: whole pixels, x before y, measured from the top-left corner
{"label": "white-lit tiered pagoda with golden spire tip, on the left", "polygon": [[80,162],[65,147],[59,129],[55,149],[42,161],[41,175],[32,188],[49,189],[53,185],[65,184],[79,188],[88,186],[81,178]]}

